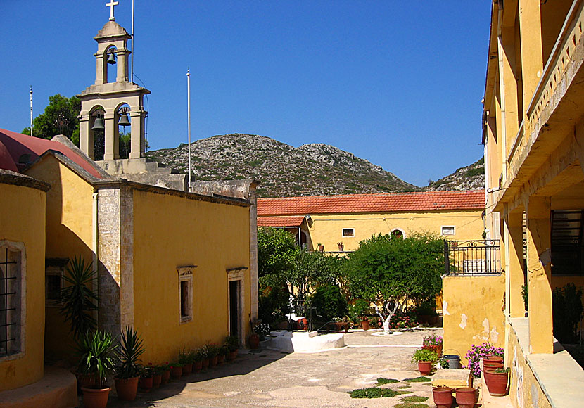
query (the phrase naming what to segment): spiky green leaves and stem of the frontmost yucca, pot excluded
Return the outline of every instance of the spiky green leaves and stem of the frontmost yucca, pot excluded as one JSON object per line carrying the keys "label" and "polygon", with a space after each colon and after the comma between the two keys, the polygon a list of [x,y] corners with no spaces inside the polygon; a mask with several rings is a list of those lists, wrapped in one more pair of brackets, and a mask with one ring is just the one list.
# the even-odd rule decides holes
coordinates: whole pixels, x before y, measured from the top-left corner
{"label": "spiky green leaves and stem of the frontmost yucca, pot excluded", "polygon": [[79,371],[94,375],[98,388],[106,388],[106,377],[115,369],[114,353],[118,345],[109,331],[85,333],[77,340],[80,352]]}

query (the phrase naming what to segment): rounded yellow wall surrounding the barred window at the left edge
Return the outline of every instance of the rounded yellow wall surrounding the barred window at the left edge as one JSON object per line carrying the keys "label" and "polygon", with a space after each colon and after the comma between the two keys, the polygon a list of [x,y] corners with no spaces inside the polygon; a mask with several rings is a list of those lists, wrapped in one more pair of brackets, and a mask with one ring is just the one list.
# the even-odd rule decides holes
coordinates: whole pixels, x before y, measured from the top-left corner
{"label": "rounded yellow wall surrounding the barred window at the left edge", "polygon": [[45,193],[0,183],[0,241],[25,248],[25,352],[0,358],[0,391],[38,381],[44,357]]}

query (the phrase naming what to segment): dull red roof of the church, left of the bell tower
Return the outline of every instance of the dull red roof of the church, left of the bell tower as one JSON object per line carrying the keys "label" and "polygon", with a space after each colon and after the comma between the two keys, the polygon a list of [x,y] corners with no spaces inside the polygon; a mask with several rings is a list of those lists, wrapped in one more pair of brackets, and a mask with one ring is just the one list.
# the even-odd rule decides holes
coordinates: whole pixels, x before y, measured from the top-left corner
{"label": "dull red roof of the church, left of the bell tower", "polygon": [[[22,155],[30,155],[29,162],[33,162],[46,151],[53,150],[67,156],[92,176],[97,177],[98,179],[103,178],[103,176],[101,176],[101,174],[99,174],[99,172],[95,170],[87,160],[58,141],[39,139],[38,137],[27,136],[26,134],[0,129],[0,144],[4,145],[4,148],[2,148],[0,152],[0,168],[2,169],[18,171],[14,170],[14,166],[18,165]],[[10,155],[12,160],[8,160],[6,152]]]}

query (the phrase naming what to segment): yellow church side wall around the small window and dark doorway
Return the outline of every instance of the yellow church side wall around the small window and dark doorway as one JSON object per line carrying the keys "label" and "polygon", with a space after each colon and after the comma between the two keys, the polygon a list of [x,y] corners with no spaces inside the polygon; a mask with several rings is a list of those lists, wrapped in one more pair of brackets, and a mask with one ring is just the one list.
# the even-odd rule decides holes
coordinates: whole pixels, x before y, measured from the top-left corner
{"label": "yellow church side wall around the small window and dark doorway", "polygon": [[[222,343],[229,333],[227,269],[250,266],[249,208],[134,191],[134,327],[143,362],[171,362],[179,350]],[[193,319],[180,322],[177,267],[193,271]],[[243,271],[243,329],[250,313]],[[241,339],[240,339],[241,340]]]}

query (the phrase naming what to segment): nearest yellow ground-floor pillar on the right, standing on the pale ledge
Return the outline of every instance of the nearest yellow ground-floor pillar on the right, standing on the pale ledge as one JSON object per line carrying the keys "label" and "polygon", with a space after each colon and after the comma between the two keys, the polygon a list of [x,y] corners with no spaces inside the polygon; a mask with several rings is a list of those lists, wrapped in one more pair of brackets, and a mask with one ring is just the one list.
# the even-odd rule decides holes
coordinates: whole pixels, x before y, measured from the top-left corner
{"label": "nearest yellow ground-floor pillar on the right, standing on the pale ledge", "polygon": [[554,352],[550,198],[531,196],[526,205],[529,352]]}

